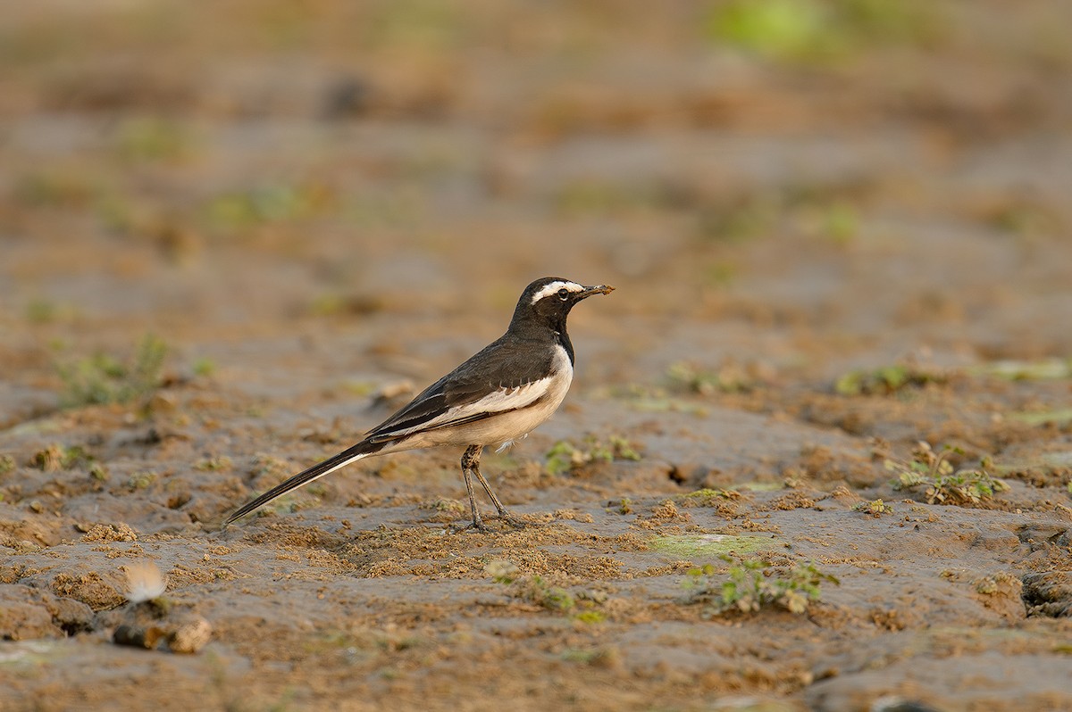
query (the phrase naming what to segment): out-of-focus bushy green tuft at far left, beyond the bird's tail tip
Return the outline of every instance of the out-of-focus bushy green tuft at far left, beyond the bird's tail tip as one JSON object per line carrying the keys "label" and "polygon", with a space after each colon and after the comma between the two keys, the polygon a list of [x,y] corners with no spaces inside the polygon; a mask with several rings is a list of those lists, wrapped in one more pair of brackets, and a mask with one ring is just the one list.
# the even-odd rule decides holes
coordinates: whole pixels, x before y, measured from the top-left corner
{"label": "out-of-focus bushy green tuft at far left, beyond the bird's tail tip", "polygon": [[145,398],[160,388],[167,345],[146,334],[130,363],[98,353],[73,364],[57,366],[63,381],[61,402],[65,407],[130,403]]}

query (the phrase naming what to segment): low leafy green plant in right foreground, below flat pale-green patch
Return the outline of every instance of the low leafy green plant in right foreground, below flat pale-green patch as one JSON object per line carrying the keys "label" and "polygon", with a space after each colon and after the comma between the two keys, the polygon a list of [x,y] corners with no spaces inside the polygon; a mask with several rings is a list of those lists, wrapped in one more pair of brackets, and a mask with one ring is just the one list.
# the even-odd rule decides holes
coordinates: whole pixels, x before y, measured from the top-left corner
{"label": "low leafy green plant in right foreground, below flat pale-green patch", "polygon": [[713,565],[693,569],[682,582],[688,592],[688,603],[703,604],[713,615],[731,610],[758,611],[763,607],[779,606],[793,613],[803,613],[813,603],[821,601],[821,585],[837,586],[836,577],[819,571],[814,563],[796,564],[781,574],[770,563],[744,560],[730,563],[729,578],[716,575]]}

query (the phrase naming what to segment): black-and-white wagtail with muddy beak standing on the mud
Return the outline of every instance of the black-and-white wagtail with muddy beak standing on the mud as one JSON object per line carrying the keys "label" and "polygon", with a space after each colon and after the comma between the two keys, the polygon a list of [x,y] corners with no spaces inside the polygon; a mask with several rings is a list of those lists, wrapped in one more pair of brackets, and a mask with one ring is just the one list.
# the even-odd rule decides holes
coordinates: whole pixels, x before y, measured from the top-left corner
{"label": "black-and-white wagtail with muddy beak standing on the mud", "polygon": [[503,521],[523,526],[480,473],[480,454],[487,446],[512,444],[554,414],[574,380],[574,345],[566,318],[582,300],[613,290],[609,285],[585,287],[562,277],[536,279],[521,292],[506,333],[429,385],[357,444],[242,504],[224,527],[361,458],[441,445],[465,448],[461,470],[472,521],[462,529],[487,531],[473,478]]}

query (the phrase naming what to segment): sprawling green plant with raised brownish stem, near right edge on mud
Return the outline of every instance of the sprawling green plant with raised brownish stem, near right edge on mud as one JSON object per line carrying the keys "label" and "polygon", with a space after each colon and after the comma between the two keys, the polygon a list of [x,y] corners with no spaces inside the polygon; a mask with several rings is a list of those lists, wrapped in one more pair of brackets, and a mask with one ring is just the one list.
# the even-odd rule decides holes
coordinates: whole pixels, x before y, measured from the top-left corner
{"label": "sprawling green plant with raised brownish stem, near right edge on mud", "polygon": [[912,490],[926,487],[928,504],[961,505],[979,504],[1009,489],[1003,480],[987,472],[993,467],[988,457],[982,459],[979,468],[954,470],[948,459],[950,453],[963,455],[964,451],[947,448],[936,453],[929,443],[920,441],[912,450],[911,460],[887,459],[885,469],[897,475],[891,482],[893,488]]}

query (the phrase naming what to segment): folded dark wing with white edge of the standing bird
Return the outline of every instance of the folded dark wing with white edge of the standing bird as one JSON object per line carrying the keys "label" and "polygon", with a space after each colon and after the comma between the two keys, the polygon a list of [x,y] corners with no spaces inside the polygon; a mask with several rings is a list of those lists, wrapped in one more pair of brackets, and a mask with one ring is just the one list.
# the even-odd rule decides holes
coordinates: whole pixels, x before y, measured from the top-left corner
{"label": "folded dark wing with white edge of the standing bird", "polygon": [[397,440],[525,408],[547,391],[552,366],[553,353],[501,338],[428,387],[366,440]]}

